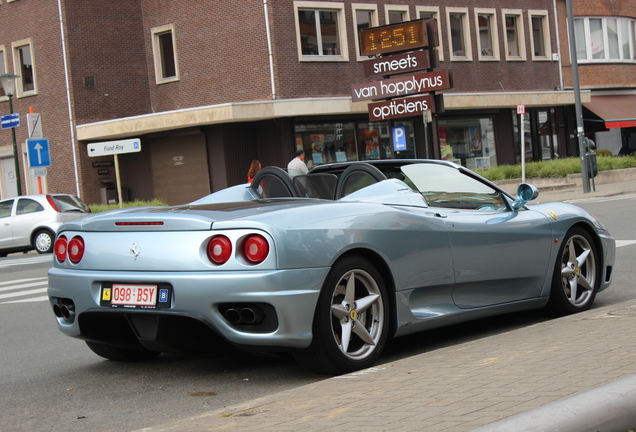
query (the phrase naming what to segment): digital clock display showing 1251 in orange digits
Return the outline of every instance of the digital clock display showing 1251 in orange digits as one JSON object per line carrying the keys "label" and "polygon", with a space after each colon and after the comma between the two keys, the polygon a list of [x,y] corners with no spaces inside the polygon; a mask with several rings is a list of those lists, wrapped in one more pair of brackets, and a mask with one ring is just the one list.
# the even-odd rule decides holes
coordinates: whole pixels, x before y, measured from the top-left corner
{"label": "digital clock display showing 1251 in orange digits", "polygon": [[360,55],[373,56],[428,45],[424,20],[360,30]]}

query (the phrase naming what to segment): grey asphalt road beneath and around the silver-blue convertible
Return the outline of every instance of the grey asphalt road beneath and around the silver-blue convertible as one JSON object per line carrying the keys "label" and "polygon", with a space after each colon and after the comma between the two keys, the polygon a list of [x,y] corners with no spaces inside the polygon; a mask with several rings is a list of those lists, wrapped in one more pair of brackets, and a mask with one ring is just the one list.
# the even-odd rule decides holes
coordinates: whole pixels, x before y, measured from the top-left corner
{"label": "grey asphalt road beneath and around the silver-blue convertible", "polygon": [[[620,244],[613,285],[597,296],[596,307],[636,298],[636,198],[577,205],[601,219]],[[130,431],[324,379],[288,357],[256,357],[227,347],[214,355],[164,354],[145,363],[103,360],[57,330],[41,291],[51,259],[33,254],[0,259],[1,432]],[[11,297],[17,286],[30,294]],[[545,319],[536,313],[507,315],[396,339],[381,362]]]}

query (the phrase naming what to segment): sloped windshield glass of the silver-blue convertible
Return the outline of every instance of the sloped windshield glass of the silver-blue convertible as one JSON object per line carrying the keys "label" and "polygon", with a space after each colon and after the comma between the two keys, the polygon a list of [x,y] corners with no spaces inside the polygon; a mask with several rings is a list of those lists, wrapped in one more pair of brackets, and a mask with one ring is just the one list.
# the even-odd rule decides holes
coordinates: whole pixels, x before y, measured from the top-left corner
{"label": "sloped windshield glass of the silver-blue convertible", "polygon": [[501,193],[462,171],[441,164],[409,164],[401,167],[405,183],[419,191],[431,207],[473,210],[507,208]]}

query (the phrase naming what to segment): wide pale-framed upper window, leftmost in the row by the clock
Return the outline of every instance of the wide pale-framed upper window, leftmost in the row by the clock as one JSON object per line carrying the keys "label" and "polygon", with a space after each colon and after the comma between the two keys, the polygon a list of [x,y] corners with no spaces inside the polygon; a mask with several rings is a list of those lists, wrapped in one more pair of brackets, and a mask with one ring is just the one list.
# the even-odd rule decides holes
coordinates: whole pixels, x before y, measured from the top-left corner
{"label": "wide pale-framed upper window, leftmost in the row by the clock", "polygon": [[349,61],[344,3],[295,1],[300,61]]}

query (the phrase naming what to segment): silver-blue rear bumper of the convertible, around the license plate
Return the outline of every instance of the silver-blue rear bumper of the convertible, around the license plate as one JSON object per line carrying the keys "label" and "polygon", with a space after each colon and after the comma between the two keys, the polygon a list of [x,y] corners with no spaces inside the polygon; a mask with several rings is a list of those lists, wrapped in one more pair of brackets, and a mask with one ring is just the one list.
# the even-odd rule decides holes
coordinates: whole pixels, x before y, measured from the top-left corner
{"label": "silver-blue rear bumper of the convertible, around the license plate", "polygon": [[[143,342],[142,339],[152,339],[153,331],[144,331],[141,328],[143,323],[137,328],[135,322],[144,321],[143,318],[138,318],[140,316],[153,316],[157,317],[157,321],[163,321],[164,327],[166,322],[196,323],[192,326],[192,331],[201,333],[201,328],[206,328],[211,331],[210,333],[216,333],[235,345],[305,348],[311,342],[316,302],[328,271],[329,268],[129,273],[52,268],[49,271],[48,295],[51,306],[61,299],[72,301],[72,319],[57,317],[59,329],[72,337],[105,343],[116,342],[117,334],[113,332],[107,332],[108,335],[103,337],[96,336],[102,334],[97,331],[97,327],[107,326],[113,319],[117,319],[116,316],[122,316],[126,317],[131,326],[130,334]],[[165,309],[101,306],[102,284],[108,282],[170,284],[170,306]],[[275,325],[265,331],[256,327],[233,325],[219,309],[228,304],[268,305],[264,309],[269,311],[267,313],[275,313]],[[157,326],[161,327],[160,324]],[[183,332],[189,331],[187,325],[179,326],[179,329]],[[184,340],[185,336],[191,335],[184,335]],[[149,344],[151,345],[150,342]],[[122,342],[122,345],[126,344]]]}

